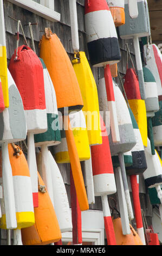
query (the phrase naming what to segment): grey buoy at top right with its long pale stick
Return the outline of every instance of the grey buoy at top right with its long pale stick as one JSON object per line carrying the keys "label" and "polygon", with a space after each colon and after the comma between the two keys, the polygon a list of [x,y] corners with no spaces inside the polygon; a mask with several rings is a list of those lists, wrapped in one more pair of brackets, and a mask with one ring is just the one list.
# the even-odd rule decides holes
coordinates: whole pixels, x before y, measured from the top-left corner
{"label": "grey buoy at top right with its long pale stick", "polygon": [[[133,1],[132,1],[133,2]],[[119,34],[121,39],[133,38],[135,59],[137,65],[137,74],[139,78],[140,94],[141,99],[145,100],[145,85],[144,75],[142,70],[142,61],[139,47],[139,37],[150,35],[150,19],[148,13],[148,6],[146,0],[138,1],[138,16],[134,19],[129,15],[129,6],[131,1],[125,1],[125,14],[126,22],[125,25],[119,27]]]}

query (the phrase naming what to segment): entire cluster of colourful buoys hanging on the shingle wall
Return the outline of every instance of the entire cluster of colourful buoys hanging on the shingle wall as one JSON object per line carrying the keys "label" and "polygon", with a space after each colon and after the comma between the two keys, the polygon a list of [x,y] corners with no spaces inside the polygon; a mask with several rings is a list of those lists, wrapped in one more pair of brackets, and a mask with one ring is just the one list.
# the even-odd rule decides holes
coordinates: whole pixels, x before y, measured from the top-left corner
{"label": "entire cluster of colourful buoys hanging on the shingle wall", "polygon": [[[74,50],[72,62],[50,28],[46,28],[42,36],[40,58],[29,46],[22,45],[16,48],[10,60],[7,87],[10,105],[5,109],[2,106],[1,113],[4,198],[1,199],[0,227],[14,229],[15,244],[23,245],[59,245],[62,243],[61,233],[73,230],[73,244],[78,245],[82,243],[81,211],[88,210],[89,204],[95,203],[95,196],[100,196],[107,244],[145,245],[139,174],[144,174],[149,189],[156,188],[160,204],[162,202],[161,162],[157,151],[152,154],[147,135],[147,117],[155,115],[152,131],[155,137],[154,129],[159,129],[157,137],[160,141],[156,116],[160,113],[157,91],[154,90],[157,80],[148,63],[147,68],[142,68],[138,39],[150,35],[147,1],[136,4],[125,1],[125,5],[124,1],[85,1],[90,64],[94,68],[102,67],[104,71],[98,88],[85,52],[79,51],[76,1],[70,1],[69,5]],[[119,27],[121,38],[134,39],[138,74],[134,69],[127,69],[123,87],[125,98],[111,73],[111,64],[116,67],[121,59],[115,26]],[[159,72],[162,58],[157,52],[154,50],[154,64]],[[3,90],[6,81],[7,78],[2,80]],[[58,110],[63,117],[59,117]],[[110,131],[106,126],[106,115],[102,118],[99,110],[110,112]],[[62,131],[61,124],[64,124]],[[90,129],[89,125],[92,125]],[[26,137],[28,162],[21,148],[13,144]],[[49,146],[54,146],[55,159]],[[37,147],[41,152],[36,157]],[[72,216],[55,160],[70,163]],[[85,161],[87,192],[80,161]],[[138,234],[129,224],[134,214],[127,175],[131,179]],[[114,220],[107,195],[116,191],[120,218]]]}

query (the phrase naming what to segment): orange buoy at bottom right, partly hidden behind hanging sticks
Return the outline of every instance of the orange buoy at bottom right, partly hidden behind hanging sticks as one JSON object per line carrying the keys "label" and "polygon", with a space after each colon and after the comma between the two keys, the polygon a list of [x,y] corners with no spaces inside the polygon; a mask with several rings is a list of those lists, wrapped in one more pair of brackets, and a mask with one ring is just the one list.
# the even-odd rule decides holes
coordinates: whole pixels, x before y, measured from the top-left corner
{"label": "orange buoy at bottom right, partly hidden behind hanging sticks", "polygon": [[113,226],[114,226],[117,245],[143,245],[139,235],[131,225],[130,225],[131,234],[129,235],[122,234],[121,218],[114,219]]}

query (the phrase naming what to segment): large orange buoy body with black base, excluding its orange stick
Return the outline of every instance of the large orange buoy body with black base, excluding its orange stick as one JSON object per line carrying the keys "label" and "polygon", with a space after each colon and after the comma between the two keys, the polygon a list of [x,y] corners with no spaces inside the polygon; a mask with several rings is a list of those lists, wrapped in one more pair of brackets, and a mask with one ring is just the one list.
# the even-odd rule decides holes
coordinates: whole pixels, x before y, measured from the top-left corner
{"label": "large orange buoy body with black base, excluding its orange stick", "polygon": [[[83,107],[82,96],[77,78],[68,54],[56,34],[50,37],[42,36],[40,42],[40,57],[47,66],[53,81],[58,110],[80,111]],[[60,72],[60,75],[58,75]]]}

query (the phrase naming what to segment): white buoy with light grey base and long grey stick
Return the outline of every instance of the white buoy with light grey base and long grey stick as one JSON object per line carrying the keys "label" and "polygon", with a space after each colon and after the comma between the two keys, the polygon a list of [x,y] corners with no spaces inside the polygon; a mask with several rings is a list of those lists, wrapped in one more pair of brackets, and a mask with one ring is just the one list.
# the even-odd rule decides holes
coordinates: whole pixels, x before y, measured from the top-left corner
{"label": "white buoy with light grey base and long grey stick", "polygon": [[135,144],[137,143],[133,131],[133,125],[131,116],[129,114],[129,110],[124,99],[124,96],[121,93],[121,90],[118,86],[114,84],[114,95],[115,95],[115,102],[116,102],[116,112],[118,117],[118,125],[119,125],[119,132],[120,132],[120,142],[113,143],[111,134],[109,135],[109,144],[111,149],[111,155],[118,155],[121,167],[121,174],[122,180],[124,184],[125,190],[125,197],[127,202],[128,208],[128,215],[129,218],[133,220],[133,210],[131,204],[131,198],[129,195],[127,177],[126,177],[126,169],[124,163],[124,153],[130,151]]}

